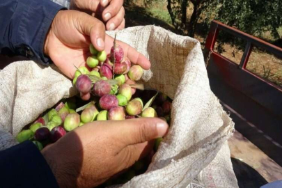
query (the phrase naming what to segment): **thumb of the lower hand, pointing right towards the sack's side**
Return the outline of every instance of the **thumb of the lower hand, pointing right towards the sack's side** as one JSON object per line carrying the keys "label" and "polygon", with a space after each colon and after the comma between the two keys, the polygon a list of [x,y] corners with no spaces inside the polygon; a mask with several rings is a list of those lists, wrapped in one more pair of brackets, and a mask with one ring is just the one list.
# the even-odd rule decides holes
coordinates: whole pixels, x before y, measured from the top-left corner
{"label": "thumb of the lower hand, pointing right towards the sack's side", "polygon": [[160,118],[135,118],[115,129],[120,132],[120,138],[117,139],[123,141],[123,147],[126,147],[163,137],[168,132],[169,125]]}

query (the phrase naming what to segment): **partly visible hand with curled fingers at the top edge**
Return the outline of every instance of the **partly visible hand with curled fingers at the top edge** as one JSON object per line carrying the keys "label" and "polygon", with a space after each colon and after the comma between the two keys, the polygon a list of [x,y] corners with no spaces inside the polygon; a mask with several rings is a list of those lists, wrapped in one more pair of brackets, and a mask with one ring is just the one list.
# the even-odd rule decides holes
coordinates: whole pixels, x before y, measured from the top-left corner
{"label": "partly visible hand with curled fingers at the top edge", "polygon": [[84,11],[106,23],[106,29],[125,28],[125,8],[123,0],[72,0],[70,9]]}

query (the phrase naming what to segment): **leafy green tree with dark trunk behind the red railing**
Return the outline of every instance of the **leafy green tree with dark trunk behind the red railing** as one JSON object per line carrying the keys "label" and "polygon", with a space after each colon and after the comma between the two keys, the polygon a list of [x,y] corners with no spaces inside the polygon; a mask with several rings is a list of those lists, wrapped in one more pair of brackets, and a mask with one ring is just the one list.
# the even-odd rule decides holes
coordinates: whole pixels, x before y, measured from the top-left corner
{"label": "leafy green tree with dark trunk behind the red railing", "polygon": [[[193,13],[187,22],[189,5],[193,6]],[[258,37],[270,31],[276,39],[282,26],[281,0],[167,0],[167,9],[173,26],[191,37],[194,37],[199,19],[203,19],[205,24],[217,19]]]}

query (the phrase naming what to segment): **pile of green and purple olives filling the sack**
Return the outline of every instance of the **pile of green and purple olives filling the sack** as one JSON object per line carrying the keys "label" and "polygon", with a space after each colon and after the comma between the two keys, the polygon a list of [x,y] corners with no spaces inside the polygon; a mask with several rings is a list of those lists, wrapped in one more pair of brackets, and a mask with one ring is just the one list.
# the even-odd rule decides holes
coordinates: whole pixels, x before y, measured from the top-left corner
{"label": "pile of green and purple olives filling the sack", "polygon": [[[143,75],[143,68],[132,64],[120,45],[114,42],[108,55],[98,52],[93,45],[90,45],[90,52],[87,67],[77,68],[72,80],[79,96],[61,100],[35,122],[26,125],[16,136],[19,143],[31,140],[42,150],[77,127],[97,120],[159,117],[170,123],[172,100],[163,93],[143,90],[143,84],[136,84]],[[81,100],[85,98],[90,100]],[[162,138],[156,139],[154,150],[147,157],[104,185],[125,183],[144,173],[161,141]]]}

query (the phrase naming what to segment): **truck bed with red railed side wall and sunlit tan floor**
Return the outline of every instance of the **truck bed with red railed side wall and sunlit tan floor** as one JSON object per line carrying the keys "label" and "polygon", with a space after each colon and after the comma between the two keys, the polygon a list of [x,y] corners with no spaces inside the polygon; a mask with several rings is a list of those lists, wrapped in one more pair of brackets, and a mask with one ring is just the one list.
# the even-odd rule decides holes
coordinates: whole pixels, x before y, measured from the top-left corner
{"label": "truck bed with red railed side wall and sunlit tan floor", "polygon": [[[214,52],[220,30],[246,40],[240,65]],[[211,90],[235,123],[228,143],[240,188],[282,180],[282,88],[246,70],[253,46],[282,58],[281,48],[217,21],[204,49]]]}

